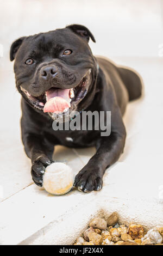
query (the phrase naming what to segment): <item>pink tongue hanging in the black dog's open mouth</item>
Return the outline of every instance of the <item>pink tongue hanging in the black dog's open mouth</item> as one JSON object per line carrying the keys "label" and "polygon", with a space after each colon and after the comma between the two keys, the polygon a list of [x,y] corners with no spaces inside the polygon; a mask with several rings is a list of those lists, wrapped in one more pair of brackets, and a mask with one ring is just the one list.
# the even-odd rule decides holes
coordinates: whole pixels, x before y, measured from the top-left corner
{"label": "pink tongue hanging in the black dog's open mouth", "polygon": [[50,89],[46,92],[47,102],[43,112],[62,113],[70,107],[70,89]]}

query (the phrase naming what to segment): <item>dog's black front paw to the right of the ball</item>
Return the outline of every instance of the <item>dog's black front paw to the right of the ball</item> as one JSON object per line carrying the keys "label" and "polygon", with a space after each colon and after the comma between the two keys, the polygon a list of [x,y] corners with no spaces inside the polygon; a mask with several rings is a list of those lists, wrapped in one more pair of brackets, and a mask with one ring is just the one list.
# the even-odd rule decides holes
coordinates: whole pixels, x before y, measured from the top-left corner
{"label": "dog's black front paw to the right of the ball", "polygon": [[85,193],[90,193],[93,190],[99,191],[103,186],[103,175],[100,170],[85,166],[76,175],[74,186],[77,187],[79,191]]}

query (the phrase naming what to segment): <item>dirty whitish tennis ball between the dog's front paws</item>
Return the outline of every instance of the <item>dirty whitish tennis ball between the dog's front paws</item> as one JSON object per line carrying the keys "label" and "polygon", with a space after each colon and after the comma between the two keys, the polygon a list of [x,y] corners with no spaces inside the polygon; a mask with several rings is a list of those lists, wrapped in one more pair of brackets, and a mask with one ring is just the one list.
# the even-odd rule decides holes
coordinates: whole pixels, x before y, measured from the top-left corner
{"label": "dirty whitish tennis ball between the dog's front paws", "polygon": [[74,182],[72,169],[65,163],[52,163],[43,174],[43,187],[54,195],[66,194]]}

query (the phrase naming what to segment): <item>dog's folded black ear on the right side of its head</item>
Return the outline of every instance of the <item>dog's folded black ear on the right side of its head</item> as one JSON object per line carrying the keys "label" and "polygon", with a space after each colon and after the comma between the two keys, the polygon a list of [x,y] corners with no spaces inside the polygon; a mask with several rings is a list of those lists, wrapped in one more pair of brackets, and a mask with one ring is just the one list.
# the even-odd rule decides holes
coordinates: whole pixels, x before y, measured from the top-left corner
{"label": "dog's folded black ear on the right side of its head", "polygon": [[67,26],[66,28],[71,29],[71,31],[73,31],[74,33],[76,33],[79,36],[82,36],[88,42],[89,42],[90,38],[92,39],[93,42],[96,42],[92,33],[85,26],[73,24],[73,25]]}

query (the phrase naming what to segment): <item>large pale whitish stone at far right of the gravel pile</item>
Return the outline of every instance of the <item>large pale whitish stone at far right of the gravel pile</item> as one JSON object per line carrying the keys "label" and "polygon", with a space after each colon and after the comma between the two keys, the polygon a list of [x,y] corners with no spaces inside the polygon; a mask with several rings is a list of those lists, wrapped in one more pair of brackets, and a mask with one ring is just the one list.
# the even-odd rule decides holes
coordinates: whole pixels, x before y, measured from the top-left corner
{"label": "large pale whitish stone at far right of the gravel pile", "polygon": [[153,244],[162,243],[162,236],[160,235],[159,231],[156,228],[150,229],[147,232],[147,234],[144,237],[142,237],[142,244],[143,241],[145,241],[146,239],[150,240]]}

